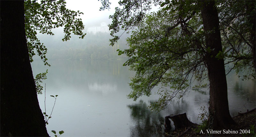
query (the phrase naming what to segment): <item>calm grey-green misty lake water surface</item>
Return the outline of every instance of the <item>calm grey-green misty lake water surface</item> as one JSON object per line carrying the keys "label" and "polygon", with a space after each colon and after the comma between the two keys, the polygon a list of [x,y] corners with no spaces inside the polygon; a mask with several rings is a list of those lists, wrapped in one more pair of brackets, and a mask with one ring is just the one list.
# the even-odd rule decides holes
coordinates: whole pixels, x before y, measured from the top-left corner
{"label": "calm grey-green misty lake water surface", "polygon": [[[51,67],[35,60],[33,74],[48,69],[46,84],[46,114],[50,115],[54,98],[58,95],[52,118],[48,120],[47,131],[61,136],[163,136],[164,117],[170,114],[187,113],[191,122],[199,124],[197,118],[207,107],[209,91],[191,90],[186,97],[172,102],[159,113],[148,108],[150,101],[158,95],[140,97],[136,102],[128,99],[130,77],[135,72],[123,66],[124,61],[108,60],[51,60]],[[44,85],[41,84],[41,85]],[[255,108],[255,81],[242,81],[234,72],[227,75],[228,102],[231,116]],[[44,91],[38,95],[44,112]]]}

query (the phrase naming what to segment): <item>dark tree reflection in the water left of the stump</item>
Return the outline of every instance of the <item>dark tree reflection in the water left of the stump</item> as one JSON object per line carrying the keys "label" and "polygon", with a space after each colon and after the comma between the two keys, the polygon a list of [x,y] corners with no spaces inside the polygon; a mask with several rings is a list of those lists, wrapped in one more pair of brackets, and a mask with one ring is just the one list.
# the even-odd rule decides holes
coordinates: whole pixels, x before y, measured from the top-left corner
{"label": "dark tree reflection in the water left of the stump", "polygon": [[160,113],[151,112],[147,103],[142,100],[128,105],[128,108],[131,109],[130,115],[134,124],[130,127],[130,136],[164,136],[164,129],[160,124],[164,123],[164,118]]}

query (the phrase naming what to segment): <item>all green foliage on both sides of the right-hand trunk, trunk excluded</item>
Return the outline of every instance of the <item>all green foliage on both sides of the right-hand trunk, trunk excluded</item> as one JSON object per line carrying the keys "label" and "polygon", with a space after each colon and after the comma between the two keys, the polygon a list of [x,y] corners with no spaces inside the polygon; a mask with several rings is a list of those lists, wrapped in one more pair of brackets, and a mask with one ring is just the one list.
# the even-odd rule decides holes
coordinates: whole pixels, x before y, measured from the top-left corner
{"label": "all green foliage on both sides of the right-hand trunk, trunk excluded", "polygon": [[[255,62],[252,57],[255,54],[255,51],[252,52],[252,40],[255,38],[252,17],[255,15],[255,8],[244,10],[252,9],[255,3],[249,3],[216,3],[220,11],[223,52],[213,55],[211,53],[214,49],[205,45],[205,34],[212,32],[204,31],[201,3],[185,0],[119,2],[121,8],[117,7],[115,14],[110,16],[113,19],[110,35],[114,36],[110,45],[119,39],[119,36],[114,35],[116,32],[132,31],[131,37],[127,39],[129,49],[118,51],[119,55],[126,54],[130,57],[124,65],[129,65],[131,70],[136,71],[136,75],[131,78],[132,92],[128,97],[137,100],[142,95],[151,95],[151,90],[158,87],[156,94],[161,97],[150,107],[161,110],[174,97],[182,97],[192,86],[193,80],[198,82],[194,88],[206,87],[203,80],[208,78],[205,64],[205,57],[208,55],[211,58],[224,58],[227,64],[234,62],[229,71],[236,68],[237,72],[248,72],[246,78],[255,78],[255,66],[252,67]],[[161,8],[157,12],[146,14],[152,4],[160,5]],[[237,7],[240,9],[236,10]],[[246,17],[250,18],[245,19]]]}

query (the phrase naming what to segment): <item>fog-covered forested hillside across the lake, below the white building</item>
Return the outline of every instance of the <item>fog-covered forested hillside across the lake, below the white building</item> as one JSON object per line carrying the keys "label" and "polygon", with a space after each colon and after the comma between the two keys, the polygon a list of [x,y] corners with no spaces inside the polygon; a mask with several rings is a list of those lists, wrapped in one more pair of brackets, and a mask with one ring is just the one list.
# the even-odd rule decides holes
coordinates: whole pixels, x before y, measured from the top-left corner
{"label": "fog-covered forested hillside across the lake, below the white building", "polygon": [[[84,39],[72,36],[69,41],[63,42],[62,32],[55,30],[55,35],[38,35],[40,42],[47,47],[46,57],[58,60],[94,60],[94,59],[124,59],[125,55],[118,56],[117,49],[127,49],[127,34],[123,34],[121,39],[113,47],[109,46],[111,36],[108,33],[86,34]],[[58,33],[59,32],[59,33]]]}

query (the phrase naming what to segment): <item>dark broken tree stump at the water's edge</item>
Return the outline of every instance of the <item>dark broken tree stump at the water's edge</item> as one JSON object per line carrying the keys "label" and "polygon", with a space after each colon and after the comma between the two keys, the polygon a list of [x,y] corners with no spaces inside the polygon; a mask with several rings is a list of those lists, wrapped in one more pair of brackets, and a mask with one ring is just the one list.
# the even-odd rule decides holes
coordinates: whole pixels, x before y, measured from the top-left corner
{"label": "dark broken tree stump at the water's edge", "polygon": [[166,128],[167,128],[167,126],[169,126],[169,125],[167,125],[167,124],[169,124],[169,122],[170,122],[170,127],[171,127],[171,121],[169,120],[169,118],[172,119],[173,124],[175,126],[175,129],[190,127],[190,126],[196,126],[195,123],[192,123],[191,121],[188,120],[187,114],[183,113],[183,114],[178,114],[178,115],[166,116],[165,117]]}

